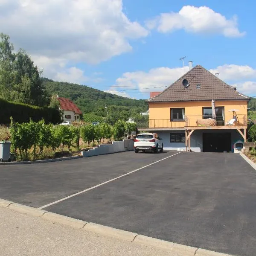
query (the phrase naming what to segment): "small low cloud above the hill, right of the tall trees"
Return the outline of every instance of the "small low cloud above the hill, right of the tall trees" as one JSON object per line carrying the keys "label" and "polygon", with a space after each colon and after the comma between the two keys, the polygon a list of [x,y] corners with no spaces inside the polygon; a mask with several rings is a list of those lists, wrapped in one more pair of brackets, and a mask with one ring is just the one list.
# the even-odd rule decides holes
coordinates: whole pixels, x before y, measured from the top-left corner
{"label": "small low cloud above the hill, right of the tall trees", "polygon": [[80,84],[89,79],[84,76],[83,70],[77,67],[70,67],[66,69],[65,72],[58,72],[54,80]]}

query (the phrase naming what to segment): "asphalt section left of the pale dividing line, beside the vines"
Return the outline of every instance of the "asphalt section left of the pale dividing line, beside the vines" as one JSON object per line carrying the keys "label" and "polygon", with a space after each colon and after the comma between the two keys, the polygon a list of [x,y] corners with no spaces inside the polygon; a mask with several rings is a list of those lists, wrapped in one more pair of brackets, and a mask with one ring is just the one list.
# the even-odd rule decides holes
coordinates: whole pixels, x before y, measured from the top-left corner
{"label": "asphalt section left of the pale dividing line, beside the vines", "polygon": [[62,162],[3,165],[0,198],[40,207],[171,154],[135,155],[132,151]]}

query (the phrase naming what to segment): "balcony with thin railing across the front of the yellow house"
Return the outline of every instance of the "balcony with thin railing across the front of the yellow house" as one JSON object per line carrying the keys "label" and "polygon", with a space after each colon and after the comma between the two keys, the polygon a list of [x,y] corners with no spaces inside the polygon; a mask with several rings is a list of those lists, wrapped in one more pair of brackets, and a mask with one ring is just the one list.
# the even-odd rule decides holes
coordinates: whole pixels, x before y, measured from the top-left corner
{"label": "balcony with thin railing across the front of the yellow house", "polygon": [[[235,120],[234,120],[235,119]],[[216,119],[210,118],[210,116],[194,115],[194,116],[185,116],[185,119],[180,121],[172,121],[170,119],[149,119],[144,122],[137,122],[137,127],[140,131],[143,128],[146,128],[145,131],[156,128],[160,129],[184,129],[187,127],[193,127],[195,129],[238,129],[247,127],[247,116],[246,115],[237,115],[236,118],[233,118],[233,114],[222,116],[217,115]]]}

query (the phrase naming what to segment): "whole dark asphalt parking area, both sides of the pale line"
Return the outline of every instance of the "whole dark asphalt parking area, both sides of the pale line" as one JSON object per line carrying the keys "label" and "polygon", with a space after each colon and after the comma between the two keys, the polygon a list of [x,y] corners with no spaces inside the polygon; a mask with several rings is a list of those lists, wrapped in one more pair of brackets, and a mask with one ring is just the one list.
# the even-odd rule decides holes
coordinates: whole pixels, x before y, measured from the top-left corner
{"label": "whole dark asphalt parking area, both sides of the pale line", "polygon": [[179,244],[255,255],[256,171],[239,154],[123,152],[0,166],[0,180],[6,200]]}

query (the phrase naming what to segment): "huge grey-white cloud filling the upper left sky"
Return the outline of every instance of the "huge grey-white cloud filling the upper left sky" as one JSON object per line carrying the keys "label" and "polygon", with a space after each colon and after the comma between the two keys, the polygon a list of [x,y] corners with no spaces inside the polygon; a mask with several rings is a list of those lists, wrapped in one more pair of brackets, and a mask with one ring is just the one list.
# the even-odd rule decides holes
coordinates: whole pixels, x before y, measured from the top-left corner
{"label": "huge grey-white cloud filling the upper left sky", "polygon": [[148,35],[123,13],[122,0],[0,0],[0,6],[0,31],[41,59],[97,64]]}

